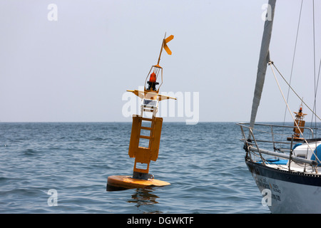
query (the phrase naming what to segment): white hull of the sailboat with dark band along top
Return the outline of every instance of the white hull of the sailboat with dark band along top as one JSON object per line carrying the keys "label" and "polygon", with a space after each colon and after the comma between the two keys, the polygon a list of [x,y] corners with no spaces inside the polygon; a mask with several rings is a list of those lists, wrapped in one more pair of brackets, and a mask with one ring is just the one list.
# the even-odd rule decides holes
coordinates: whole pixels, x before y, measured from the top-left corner
{"label": "white hull of the sailboat with dark band along top", "polygon": [[246,161],[246,164],[260,192],[263,193],[263,202],[267,204],[270,212],[275,214],[321,213],[321,177],[319,175],[302,175],[299,172],[277,170],[250,161]]}

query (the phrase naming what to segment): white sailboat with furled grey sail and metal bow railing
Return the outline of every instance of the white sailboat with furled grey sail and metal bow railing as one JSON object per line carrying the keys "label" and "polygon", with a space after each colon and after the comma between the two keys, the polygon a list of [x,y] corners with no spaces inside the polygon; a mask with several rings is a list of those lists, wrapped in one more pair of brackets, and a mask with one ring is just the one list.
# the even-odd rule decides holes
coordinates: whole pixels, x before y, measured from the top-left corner
{"label": "white sailboat with furled grey sail and metal bow railing", "polygon": [[[264,25],[250,123],[238,123],[244,142],[245,163],[270,212],[321,213],[321,138],[317,138],[321,129],[317,128],[320,117],[316,109],[310,108],[287,83],[301,103],[298,111],[291,111],[278,84],[293,124],[255,123],[267,67],[272,69],[274,76],[275,70],[282,76],[271,61],[269,51],[275,3],[276,0],[268,2],[270,15]],[[310,127],[304,120],[307,115],[304,110],[307,109],[315,119]]]}

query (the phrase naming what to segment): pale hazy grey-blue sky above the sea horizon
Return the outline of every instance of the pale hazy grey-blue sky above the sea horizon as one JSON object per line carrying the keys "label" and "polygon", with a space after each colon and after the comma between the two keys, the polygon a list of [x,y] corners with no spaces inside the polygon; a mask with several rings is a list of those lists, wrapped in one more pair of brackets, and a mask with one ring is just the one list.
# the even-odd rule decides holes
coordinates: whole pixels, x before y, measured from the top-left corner
{"label": "pale hazy grey-blue sky above the sea horizon", "polygon": [[[165,120],[185,121],[192,103],[199,107],[191,109],[199,121],[248,122],[263,4],[267,0],[0,0],[0,121],[131,121],[123,113],[126,90],[143,86],[166,32],[174,35],[168,43],[173,54],[162,54],[161,92],[183,95],[175,101],[183,110]],[[275,9],[270,56],[288,80],[300,4],[278,0]],[[315,9],[317,74],[320,1]],[[52,16],[56,20],[49,20]],[[305,0],[291,83],[311,106],[313,67],[312,0]],[[286,87],[283,92],[287,94]],[[134,95],[130,99],[138,102]],[[299,105],[290,95],[290,108],[295,111]],[[317,109],[320,113],[320,105]],[[284,112],[267,68],[257,120],[282,121]]]}

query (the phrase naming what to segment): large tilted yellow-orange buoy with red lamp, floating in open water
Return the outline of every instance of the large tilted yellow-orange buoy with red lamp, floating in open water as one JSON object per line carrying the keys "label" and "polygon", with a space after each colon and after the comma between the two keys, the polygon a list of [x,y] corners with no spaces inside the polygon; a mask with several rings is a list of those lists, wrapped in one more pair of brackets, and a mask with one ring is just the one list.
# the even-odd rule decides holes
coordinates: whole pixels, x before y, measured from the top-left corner
{"label": "large tilted yellow-orange buoy with red lamp, floating in open water", "polygon": [[[171,35],[168,36],[168,38],[163,39],[161,53],[163,48],[168,54],[172,53],[166,43],[171,41],[173,38],[174,36]],[[148,173],[151,160],[156,161],[158,158],[158,150],[161,140],[163,118],[156,117],[158,103],[165,99],[176,100],[176,98],[158,94],[159,88],[163,84],[163,68],[159,66],[161,53],[158,58],[157,65],[152,66],[151,71],[148,73],[148,76],[150,77],[149,80],[148,76],[146,77],[144,90],[128,90],[142,99],[141,115],[133,115],[131,140],[128,150],[129,157],[135,158],[133,176],[114,175],[108,177],[107,190],[123,190],[170,185],[168,182],[153,179],[153,175]],[[157,82],[157,78],[161,78],[161,85]],[[147,88],[146,85],[148,86]],[[152,117],[144,116],[144,113],[152,113]],[[145,134],[142,134],[143,131],[145,131]],[[146,135],[148,132],[149,134]],[[137,167],[139,163],[143,164],[143,167]]]}

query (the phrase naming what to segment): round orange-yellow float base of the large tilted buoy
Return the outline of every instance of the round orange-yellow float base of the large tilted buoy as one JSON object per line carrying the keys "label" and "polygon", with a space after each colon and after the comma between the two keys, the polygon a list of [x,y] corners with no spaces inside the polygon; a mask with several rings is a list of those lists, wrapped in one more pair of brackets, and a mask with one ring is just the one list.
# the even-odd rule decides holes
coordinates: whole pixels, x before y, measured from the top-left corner
{"label": "round orange-yellow float base of the large tilted buoy", "polygon": [[107,180],[107,190],[161,187],[165,185],[170,185],[170,183],[156,179],[138,180],[125,175],[110,176]]}

